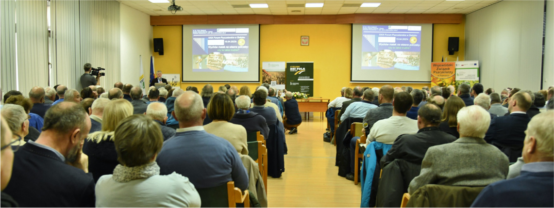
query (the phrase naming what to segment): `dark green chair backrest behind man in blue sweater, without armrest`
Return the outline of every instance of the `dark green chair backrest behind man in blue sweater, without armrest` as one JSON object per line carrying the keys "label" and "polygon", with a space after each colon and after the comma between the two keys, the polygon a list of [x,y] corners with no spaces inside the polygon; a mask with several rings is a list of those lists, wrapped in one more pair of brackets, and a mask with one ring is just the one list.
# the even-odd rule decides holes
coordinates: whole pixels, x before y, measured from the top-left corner
{"label": "dark green chair backrest behind man in blue sweater, without armrest", "polygon": [[229,207],[227,183],[205,189],[196,189],[202,202],[201,207]]}

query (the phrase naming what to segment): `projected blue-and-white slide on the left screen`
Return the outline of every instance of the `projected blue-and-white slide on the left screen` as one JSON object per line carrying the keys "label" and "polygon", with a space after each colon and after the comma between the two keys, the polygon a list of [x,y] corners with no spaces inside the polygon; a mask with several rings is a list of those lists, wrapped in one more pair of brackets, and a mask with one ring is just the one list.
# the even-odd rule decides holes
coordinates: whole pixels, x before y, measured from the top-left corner
{"label": "projected blue-and-white slide on the left screen", "polygon": [[249,28],[192,29],[193,72],[248,72]]}

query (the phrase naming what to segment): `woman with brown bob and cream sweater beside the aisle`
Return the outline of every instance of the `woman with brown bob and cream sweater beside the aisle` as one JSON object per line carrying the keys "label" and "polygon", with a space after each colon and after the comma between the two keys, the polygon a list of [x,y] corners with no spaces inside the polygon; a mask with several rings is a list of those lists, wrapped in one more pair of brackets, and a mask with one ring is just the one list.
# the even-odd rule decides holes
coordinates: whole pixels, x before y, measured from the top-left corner
{"label": "woman with brown bob and cream sweater beside the aisle", "polygon": [[[225,86],[223,86],[225,88]],[[239,154],[248,154],[246,129],[239,124],[230,123],[235,107],[229,95],[214,93],[208,103],[208,116],[212,123],[204,125],[204,130],[217,137],[227,140]]]}

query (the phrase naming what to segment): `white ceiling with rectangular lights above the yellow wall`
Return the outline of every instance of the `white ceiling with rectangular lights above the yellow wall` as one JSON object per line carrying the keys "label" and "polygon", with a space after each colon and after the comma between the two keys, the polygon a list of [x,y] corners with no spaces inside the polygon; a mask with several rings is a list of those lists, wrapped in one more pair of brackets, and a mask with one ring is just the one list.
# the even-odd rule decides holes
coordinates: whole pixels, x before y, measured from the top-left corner
{"label": "white ceiling with rectangular lights above the yellow wall", "polygon": [[[407,1],[175,1],[177,6],[183,7],[183,11],[177,14],[171,14],[167,11],[170,3],[151,3],[147,0],[119,2],[135,8],[149,15],[220,15],[220,14],[273,14],[273,15],[292,15],[292,14],[437,14],[437,13],[456,13],[466,14],[477,9],[489,6],[497,0],[487,1],[427,1],[427,0],[407,0]],[[171,0],[170,0],[171,2]],[[269,8],[234,8],[233,5],[244,5],[251,3],[266,3]],[[322,8],[304,8],[288,7],[288,4],[304,3],[325,3]],[[373,7],[343,7],[343,4],[361,4],[361,3],[381,3],[381,6]],[[293,12],[294,11],[294,12]]]}

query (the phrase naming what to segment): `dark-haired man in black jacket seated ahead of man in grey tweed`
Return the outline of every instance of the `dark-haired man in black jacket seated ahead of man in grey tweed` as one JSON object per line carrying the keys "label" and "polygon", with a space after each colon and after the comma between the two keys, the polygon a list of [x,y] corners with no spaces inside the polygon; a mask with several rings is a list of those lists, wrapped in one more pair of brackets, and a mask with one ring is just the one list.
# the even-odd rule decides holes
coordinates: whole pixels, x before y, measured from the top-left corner
{"label": "dark-haired man in black jacket seated ahead of man in grey tweed", "polygon": [[438,106],[427,104],[419,108],[416,134],[402,134],[387,154],[381,158],[381,167],[384,168],[394,159],[403,159],[407,162],[421,164],[429,147],[454,142],[456,137],[439,130],[438,126],[442,111]]}

